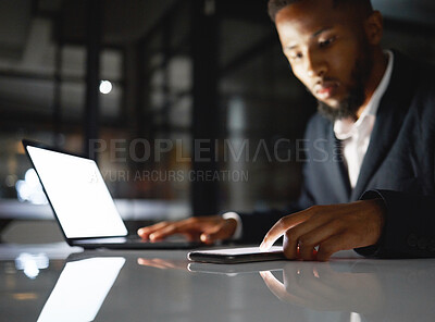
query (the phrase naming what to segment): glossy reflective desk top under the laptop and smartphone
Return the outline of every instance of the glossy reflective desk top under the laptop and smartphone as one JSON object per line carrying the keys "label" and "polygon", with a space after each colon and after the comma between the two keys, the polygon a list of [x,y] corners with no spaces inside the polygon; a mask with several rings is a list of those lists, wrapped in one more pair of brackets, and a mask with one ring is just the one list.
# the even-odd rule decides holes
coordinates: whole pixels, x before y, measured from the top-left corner
{"label": "glossy reflective desk top under the laptop and smartphone", "polygon": [[0,321],[435,321],[435,260],[189,263],[187,251],[0,245]]}

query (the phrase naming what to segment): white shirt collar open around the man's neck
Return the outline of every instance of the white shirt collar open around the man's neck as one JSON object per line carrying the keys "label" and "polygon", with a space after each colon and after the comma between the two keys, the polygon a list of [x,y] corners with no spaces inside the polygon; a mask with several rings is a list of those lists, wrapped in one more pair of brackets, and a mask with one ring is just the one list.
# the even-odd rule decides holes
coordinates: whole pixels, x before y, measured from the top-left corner
{"label": "white shirt collar open around the man's neck", "polygon": [[381,79],[380,85],[377,85],[375,91],[373,92],[369,103],[365,109],[362,111],[361,116],[353,121],[352,119],[340,119],[334,122],[334,133],[338,139],[347,139],[353,135],[358,127],[364,122],[366,116],[376,117],[377,108],[380,106],[381,99],[384,96],[389,79],[391,78],[393,73],[393,64],[394,64],[394,54],[390,50],[384,51],[388,57],[387,69],[385,70],[384,76]]}

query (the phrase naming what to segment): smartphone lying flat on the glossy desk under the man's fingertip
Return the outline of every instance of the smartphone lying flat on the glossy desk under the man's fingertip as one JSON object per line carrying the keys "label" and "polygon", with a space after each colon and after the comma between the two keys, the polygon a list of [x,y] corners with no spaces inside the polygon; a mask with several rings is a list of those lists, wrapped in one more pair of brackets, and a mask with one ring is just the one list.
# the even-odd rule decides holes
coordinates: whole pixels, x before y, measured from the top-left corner
{"label": "smartphone lying flat on the glossy desk under the man's fingertip", "polygon": [[234,264],[285,259],[282,246],[274,246],[268,251],[260,251],[259,247],[198,250],[190,251],[187,255],[187,258],[191,261],[219,264]]}

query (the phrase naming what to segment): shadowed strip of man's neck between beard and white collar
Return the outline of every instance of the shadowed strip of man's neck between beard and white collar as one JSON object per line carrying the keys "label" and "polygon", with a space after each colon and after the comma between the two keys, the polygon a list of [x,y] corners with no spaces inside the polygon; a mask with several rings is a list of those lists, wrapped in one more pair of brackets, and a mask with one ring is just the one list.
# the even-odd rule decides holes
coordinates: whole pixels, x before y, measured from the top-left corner
{"label": "shadowed strip of man's neck between beard and white collar", "polygon": [[373,69],[372,73],[368,79],[366,86],[365,86],[365,100],[362,103],[362,106],[359,108],[357,111],[357,120],[361,116],[362,112],[369,104],[370,100],[372,99],[372,96],[374,91],[376,90],[377,86],[380,85],[385,71],[388,65],[388,58],[387,55],[382,51],[381,48],[374,51],[373,53]]}

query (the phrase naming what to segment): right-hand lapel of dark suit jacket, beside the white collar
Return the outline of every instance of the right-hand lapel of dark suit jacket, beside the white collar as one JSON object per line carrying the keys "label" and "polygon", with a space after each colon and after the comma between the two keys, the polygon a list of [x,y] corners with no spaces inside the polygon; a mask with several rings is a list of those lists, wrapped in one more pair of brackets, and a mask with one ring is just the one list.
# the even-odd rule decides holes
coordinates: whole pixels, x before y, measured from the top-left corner
{"label": "right-hand lapel of dark suit jacket, beside the white collar", "polygon": [[411,76],[413,65],[398,52],[394,52],[394,59],[390,84],[380,102],[369,148],[350,200],[358,200],[368,189],[371,178],[397,138],[411,103],[415,87]]}

